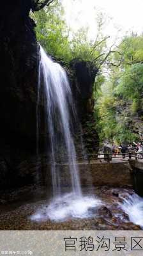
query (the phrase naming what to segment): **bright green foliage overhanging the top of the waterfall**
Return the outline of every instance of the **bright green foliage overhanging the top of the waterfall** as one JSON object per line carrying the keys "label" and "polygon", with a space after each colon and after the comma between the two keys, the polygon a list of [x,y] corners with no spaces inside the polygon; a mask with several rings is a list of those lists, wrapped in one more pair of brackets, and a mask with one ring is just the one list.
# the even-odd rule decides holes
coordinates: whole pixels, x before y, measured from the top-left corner
{"label": "bright green foliage overhanging the top of the waterfall", "polygon": [[102,14],[98,15],[98,35],[95,41],[89,40],[89,28],[80,28],[76,32],[68,28],[64,20],[63,6],[59,0],[40,12],[32,13],[31,16],[36,22],[38,42],[48,54],[67,63],[77,58],[92,61],[96,67],[100,67],[100,63],[107,54],[105,49],[109,38],[102,35]]}

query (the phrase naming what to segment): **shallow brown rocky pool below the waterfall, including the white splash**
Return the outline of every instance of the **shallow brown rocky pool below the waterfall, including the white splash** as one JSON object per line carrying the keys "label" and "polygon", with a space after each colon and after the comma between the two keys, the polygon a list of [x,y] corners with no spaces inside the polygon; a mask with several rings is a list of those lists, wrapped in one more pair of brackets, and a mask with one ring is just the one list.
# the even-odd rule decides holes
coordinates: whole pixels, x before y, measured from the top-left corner
{"label": "shallow brown rocky pool below the waterfall, including the white splash", "polygon": [[[50,200],[47,189],[11,193],[1,204],[1,230],[140,230],[142,223],[132,218],[128,200],[132,189],[82,189],[83,198],[66,193]],[[4,196],[3,196],[4,199]],[[127,203],[128,202],[128,203]],[[138,204],[139,202],[137,202]],[[125,206],[128,204],[128,207]],[[138,205],[139,206],[139,205]],[[127,211],[128,209],[128,211]],[[139,207],[142,214],[142,207]],[[135,213],[136,214],[136,213]],[[137,215],[137,214],[136,214]]]}

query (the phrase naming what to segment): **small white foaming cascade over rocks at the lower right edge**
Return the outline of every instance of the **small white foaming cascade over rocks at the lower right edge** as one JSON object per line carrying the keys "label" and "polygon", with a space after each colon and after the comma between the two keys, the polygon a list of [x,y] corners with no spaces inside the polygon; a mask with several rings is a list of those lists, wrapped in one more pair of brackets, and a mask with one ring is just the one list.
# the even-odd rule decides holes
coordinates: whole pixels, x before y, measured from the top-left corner
{"label": "small white foaming cascade over rocks at the lower right edge", "polygon": [[143,228],[143,198],[137,194],[123,198],[121,209],[128,214],[129,220]]}

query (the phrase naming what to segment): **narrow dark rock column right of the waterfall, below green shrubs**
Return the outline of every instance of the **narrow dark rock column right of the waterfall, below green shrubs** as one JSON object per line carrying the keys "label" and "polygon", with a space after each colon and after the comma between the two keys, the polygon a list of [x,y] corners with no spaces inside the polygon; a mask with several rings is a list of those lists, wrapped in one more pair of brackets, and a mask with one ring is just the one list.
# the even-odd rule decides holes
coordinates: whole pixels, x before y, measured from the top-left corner
{"label": "narrow dark rock column right of the waterfall, below green shrubs", "polygon": [[[99,138],[94,118],[93,86],[98,68],[91,62],[73,60],[72,90],[75,99],[77,114],[82,129],[76,134],[77,146],[81,143],[81,136],[87,154],[96,154],[99,147]],[[77,147],[79,154],[80,148]]]}

